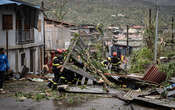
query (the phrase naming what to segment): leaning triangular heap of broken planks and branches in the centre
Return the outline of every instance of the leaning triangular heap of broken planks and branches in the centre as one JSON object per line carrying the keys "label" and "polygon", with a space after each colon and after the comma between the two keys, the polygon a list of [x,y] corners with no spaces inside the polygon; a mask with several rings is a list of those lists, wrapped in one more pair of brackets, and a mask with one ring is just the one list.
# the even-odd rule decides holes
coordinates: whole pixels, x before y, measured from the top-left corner
{"label": "leaning triangular heap of broken planks and branches in the centre", "polygon": [[[96,38],[97,42],[101,42],[98,37]],[[78,77],[79,80],[85,77],[95,83],[98,83],[100,79],[103,79],[105,84],[112,86],[112,83],[103,74],[105,70],[100,61],[97,61],[97,59],[91,56],[88,44],[89,42],[87,42],[87,40],[83,40],[82,36],[78,34],[75,35],[75,38],[72,39],[72,43],[68,49],[68,54],[63,67],[61,68],[61,72],[66,69],[71,71],[69,73],[78,74],[78,76],[80,76]],[[74,64],[70,62],[70,59],[74,61]]]}

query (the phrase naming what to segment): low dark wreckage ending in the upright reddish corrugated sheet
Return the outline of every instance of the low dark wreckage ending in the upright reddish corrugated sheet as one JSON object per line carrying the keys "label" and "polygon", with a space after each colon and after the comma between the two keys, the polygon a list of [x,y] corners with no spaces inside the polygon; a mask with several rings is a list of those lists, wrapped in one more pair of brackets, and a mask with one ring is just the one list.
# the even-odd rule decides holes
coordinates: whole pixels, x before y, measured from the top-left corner
{"label": "low dark wreckage ending in the upright reddish corrugated sheet", "polygon": [[108,74],[110,81],[117,84],[125,84],[127,88],[138,89],[147,87],[159,87],[162,82],[166,80],[166,74],[160,72],[156,65],[151,65],[144,75],[137,74]]}

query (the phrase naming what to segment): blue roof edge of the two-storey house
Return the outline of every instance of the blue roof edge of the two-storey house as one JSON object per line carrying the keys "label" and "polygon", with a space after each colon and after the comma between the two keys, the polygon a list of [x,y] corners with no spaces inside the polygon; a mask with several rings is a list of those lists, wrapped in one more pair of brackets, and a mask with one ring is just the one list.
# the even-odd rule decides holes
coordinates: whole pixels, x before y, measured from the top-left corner
{"label": "blue roof edge of the two-storey house", "polygon": [[34,6],[30,3],[18,1],[18,0],[0,0],[0,5],[10,5],[10,4],[16,4],[16,5],[25,5],[33,8],[40,8],[39,6]]}

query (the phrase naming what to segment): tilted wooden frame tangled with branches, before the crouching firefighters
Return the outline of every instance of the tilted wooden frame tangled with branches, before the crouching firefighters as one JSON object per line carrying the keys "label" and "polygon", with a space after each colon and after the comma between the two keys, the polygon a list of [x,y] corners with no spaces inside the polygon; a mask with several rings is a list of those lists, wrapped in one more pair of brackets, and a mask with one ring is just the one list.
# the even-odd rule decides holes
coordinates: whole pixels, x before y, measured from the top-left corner
{"label": "tilted wooden frame tangled with branches, before the crouching firefighters", "polygon": [[[100,61],[97,62],[96,59],[90,56],[88,48],[85,50],[86,47],[87,45],[84,43],[80,35],[76,35],[75,39],[72,41],[72,45],[69,47],[69,53],[64,61],[61,71],[63,71],[64,68],[67,68],[73,73],[79,74],[96,82],[102,78],[104,80],[104,83],[112,86],[113,84],[103,74],[103,69],[99,67],[99,64],[101,65]],[[84,69],[82,69],[81,66],[76,66],[76,68],[69,66],[70,56],[73,59],[77,59],[77,56],[80,56],[81,61],[84,65]],[[77,59],[76,61],[79,60]]]}

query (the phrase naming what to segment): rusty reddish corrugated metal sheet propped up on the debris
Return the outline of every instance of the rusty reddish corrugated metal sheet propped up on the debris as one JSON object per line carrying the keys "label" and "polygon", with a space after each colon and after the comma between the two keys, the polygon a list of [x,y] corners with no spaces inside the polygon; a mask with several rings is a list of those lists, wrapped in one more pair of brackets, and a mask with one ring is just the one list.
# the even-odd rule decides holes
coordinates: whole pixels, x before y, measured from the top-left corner
{"label": "rusty reddish corrugated metal sheet propped up on the debris", "polygon": [[152,65],[142,78],[142,80],[145,81],[151,81],[155,83],[161,83],[165,81],[166,79],[166,74],[163,72],[160,72],[159,69],[156,67],[156,65]]}

